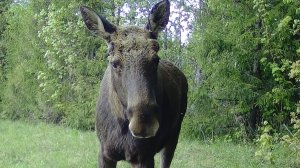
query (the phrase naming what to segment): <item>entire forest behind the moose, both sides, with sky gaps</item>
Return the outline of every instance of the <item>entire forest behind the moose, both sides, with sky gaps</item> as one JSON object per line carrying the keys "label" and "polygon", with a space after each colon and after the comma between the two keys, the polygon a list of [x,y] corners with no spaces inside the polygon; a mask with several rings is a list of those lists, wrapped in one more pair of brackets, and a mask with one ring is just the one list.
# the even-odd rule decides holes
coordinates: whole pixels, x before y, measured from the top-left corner
{"label": "entire forest behind the moose, both sides, with sky gaps", "polygon": [[[85,28],[79,6],[143,26],[156,2],[1,0],[0,118],[94,130],[107,46]],[[300,156],[300,1],[171,4],[159,55],[189,81],[182,137],[254,142],[261,157],[283,144]]]}

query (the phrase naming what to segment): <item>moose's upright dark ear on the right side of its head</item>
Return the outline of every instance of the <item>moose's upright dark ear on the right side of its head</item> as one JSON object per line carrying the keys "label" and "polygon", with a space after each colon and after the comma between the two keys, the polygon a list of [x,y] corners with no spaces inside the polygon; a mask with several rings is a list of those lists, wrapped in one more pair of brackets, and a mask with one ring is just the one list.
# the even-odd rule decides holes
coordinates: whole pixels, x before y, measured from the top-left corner
{"label": "moose's upright dark ear on the right side of its head", "polygon": [[163,30],[168,22],[170,16],[170,2],[169,0],[163,0],[151,9],[151,12],[148,16],[148,24],[146,29],[154,33],[157,37],[158,33]]}

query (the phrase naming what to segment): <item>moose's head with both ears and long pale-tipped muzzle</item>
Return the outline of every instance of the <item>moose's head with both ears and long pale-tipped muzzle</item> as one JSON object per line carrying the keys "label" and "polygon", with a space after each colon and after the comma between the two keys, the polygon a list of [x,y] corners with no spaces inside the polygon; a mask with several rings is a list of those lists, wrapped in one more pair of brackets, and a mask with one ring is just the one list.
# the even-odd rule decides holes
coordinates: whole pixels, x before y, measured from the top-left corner
{"label": "moose's head with both ears and long pale-tipped muzzle", "polygon": [[168,24],[169,1],[152,8],[144,28],[117,27],[88,7],[80,10],[87,28],[108,44],[112,113],[129,121],[134,137],[155,136],[160,126],[157,36]]}

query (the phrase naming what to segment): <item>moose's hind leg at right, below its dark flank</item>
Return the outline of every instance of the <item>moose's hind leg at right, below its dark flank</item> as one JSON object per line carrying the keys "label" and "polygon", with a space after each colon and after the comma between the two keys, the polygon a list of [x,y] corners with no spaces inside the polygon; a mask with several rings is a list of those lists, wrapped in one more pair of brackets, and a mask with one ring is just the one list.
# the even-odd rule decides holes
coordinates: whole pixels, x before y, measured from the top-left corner
{"label": "moose's hind leg at right, below its dark flank", "polygon": [[161,168],[169,168],[177,146],[179,132],[172,138],[169,143],[160,152]]}

